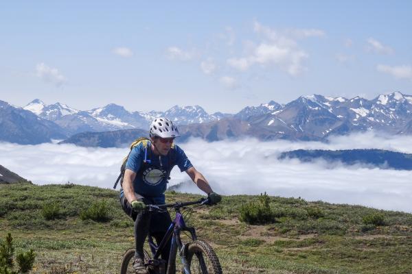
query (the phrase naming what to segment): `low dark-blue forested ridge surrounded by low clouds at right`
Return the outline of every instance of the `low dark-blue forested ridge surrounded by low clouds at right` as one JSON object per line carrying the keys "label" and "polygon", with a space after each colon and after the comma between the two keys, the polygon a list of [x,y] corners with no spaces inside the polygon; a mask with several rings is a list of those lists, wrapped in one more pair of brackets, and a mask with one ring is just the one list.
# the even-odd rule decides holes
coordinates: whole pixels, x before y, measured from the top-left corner
{"label": "low dark-blue forested ridge surrounded by low clouds at right", "polygon": [[283,152],[279,159],[298,158],[303,162],[316,159],[341,161],[345,164],[373,164],[380,169],[412,170],[412,154],[387,151],[382,149],[350,149],[350,150],[305,150]]}

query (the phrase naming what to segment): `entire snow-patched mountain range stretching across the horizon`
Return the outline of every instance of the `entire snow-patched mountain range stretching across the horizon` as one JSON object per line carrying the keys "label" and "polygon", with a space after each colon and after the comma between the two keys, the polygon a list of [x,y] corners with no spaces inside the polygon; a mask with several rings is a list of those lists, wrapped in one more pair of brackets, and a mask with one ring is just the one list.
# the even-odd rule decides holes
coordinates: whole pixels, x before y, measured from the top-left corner
{"label": "entire snow-patched mountain range stretching across the horizon", "polygon": [[[122,130],[146,131],[150,121],[159,116],[166,116],[179,125],[182,141],[190,137],[215,141],[246,136],[260,140],[325,140],[332,134],[367,130],[412,134],[411,113],[412,96],[401,92],[371,100],[306,95],[286,104],[270,101],[247,106],[236,114],[207,114],[199,105],[174,105],[165,112],[129,112],[113,103],[81,111],[62,103],[46,105],[39,99],[24,108],[0,101],[0,140],[36,144],[70,137],[66,142],[80,144],[81,139],[87,146],[118,146],[128,142]],[[112,131],[118,132],[103,133]],[[130,136],[130,131],[124,134]]]}

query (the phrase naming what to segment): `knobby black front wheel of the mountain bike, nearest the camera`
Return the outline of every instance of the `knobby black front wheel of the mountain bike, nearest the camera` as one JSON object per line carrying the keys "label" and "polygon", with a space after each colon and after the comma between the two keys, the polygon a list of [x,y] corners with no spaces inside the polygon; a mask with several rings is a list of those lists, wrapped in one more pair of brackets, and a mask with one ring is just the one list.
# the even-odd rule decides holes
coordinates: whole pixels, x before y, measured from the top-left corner
{"label": "knobby black front wheel of the mountain bike, nearest the camera", "polygon": [[187,245],[186,260],[192,274],[222,274],[218,256],[203,240],[195,240]]}

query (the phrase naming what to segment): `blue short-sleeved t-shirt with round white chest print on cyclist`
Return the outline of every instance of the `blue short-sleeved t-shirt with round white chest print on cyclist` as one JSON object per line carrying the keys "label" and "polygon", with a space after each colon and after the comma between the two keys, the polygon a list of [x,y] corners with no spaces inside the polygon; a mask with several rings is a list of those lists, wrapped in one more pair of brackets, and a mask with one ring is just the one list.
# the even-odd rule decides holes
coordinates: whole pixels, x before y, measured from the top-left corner
{"label": "blue short-sleeved t-shirt with round white chest print on cyclist", "polygon": [[[146,152],[147,151],[147,152]],[[145,160],[146,154],[146,162]],[[143,197],[152,198],[155,203],[165,203],[163,194],[167,188],[168,177],[173,166],[179,166],[181,172],[192,167],[185,151],[177,145],[172,145],[168,155],[156,155],[152,151],[151,142],[145,147],[143,143],[134,147],[128,156],[126,169],[137,173],[133,181],[135,192]],[[124,195],[123,189],[120,197]]]}

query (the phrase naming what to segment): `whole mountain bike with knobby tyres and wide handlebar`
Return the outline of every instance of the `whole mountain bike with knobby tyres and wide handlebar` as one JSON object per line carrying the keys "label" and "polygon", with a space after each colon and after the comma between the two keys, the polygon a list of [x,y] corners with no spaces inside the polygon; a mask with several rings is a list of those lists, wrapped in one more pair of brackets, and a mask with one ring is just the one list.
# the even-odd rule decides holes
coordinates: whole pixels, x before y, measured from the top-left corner
{"label": "whole mountain bike with knobby tyres and wide handlebar", "polygon": [[[209,199],[202,198],[198,201],[189,202],[176,202],[168,203],[165,205],[148,205],[145,210],[150,212],[165,212],[168,208],[173,208],[176,212],[176,216],[165,236],[156,245],[154,238],[148,236],[148,245],[152,253],[152,258],[150,258],[149,253],[145,250],[145,266],[150,274],[173,274],[176,269],[176,253],[179,251],[179,256],[181,258],[181,273],[183,274],[221,274],[222,267],[216,253],[211,248],[211,246],[204,240],[198,240],[196,236],[196,231],[194,227],[187,227],[185,220],[183,218],[184,213],[190,212],[192,208],[187,208],[188,206],[193,206],[198,204],[203,206],[209,202]],[[184,211],[184,212],[183,212]],[[182,213],[183,212],[183,213]],[[181,232],[189,232],[191,241],[183,243],[181,239]],[[161,251],[165,248],[166,243],[172,237],[172,244],[170,247],[169,260],[165,262],[161,260]],[[123,256],[122,265],[120,267],[121,274],[132,274],[135,273],[133,269],[133,259],[135,257],[135,249],[129,249]],[[166,267],[167,266],[167,267]],[[167,269],[167,273],[165,272]],[[177,270],[179,271],[179,270]]]}

